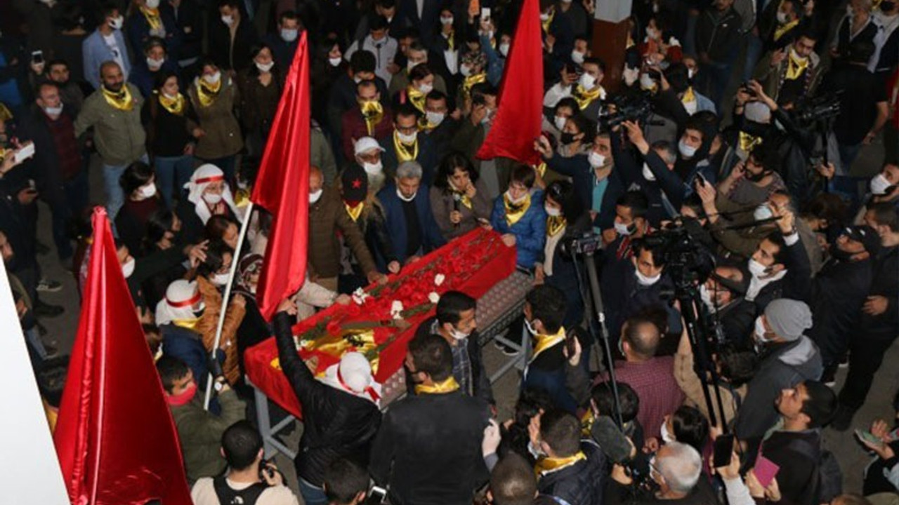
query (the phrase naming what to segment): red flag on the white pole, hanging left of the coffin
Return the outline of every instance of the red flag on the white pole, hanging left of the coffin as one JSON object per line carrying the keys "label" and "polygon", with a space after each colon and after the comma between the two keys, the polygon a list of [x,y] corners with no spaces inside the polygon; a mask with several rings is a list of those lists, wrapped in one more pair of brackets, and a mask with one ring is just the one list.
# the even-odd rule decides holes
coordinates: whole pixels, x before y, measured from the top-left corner
{"label": "red flag on the white pole, hanging left of the coffin", "polygon": [[254,203],[271,212],[269,243],[256,289],[259,312],[271,320],[280,301],[303,285],[309,232],[309,55],[299,39],[278,113],[271,124]]}

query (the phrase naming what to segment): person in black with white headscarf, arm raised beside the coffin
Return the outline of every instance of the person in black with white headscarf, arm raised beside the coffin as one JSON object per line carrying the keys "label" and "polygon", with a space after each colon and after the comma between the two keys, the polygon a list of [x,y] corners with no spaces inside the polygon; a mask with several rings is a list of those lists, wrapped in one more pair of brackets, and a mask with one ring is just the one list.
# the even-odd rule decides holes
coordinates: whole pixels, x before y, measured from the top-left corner
{"label": "person in black with white headscarf, arm raised beside the coffin", "polygon": [[359,352],[347,352],[316,380],[294,345],[291,319],[296,314],[293,300],[285,299],[272,323],[280,368],[303,406],[303,436],[294,460],[299,491],[307,505],[324,505],[328,465],[340,458],[368,465],[369,447],[381,422],[380,385]]}

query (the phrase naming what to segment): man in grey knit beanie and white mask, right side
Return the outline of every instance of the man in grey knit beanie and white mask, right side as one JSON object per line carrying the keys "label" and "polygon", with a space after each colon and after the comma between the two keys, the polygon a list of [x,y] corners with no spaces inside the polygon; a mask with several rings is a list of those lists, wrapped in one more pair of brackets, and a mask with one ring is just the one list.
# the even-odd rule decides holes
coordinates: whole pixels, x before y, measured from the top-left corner
{"label": "man in grey knit beanie and white mask, right side", "polygon": [[811,327],[812,311],[805,302],[789,298],[773,300],[755,320],[752,338],[761,359],[737,414],[738,439],[758,442],[778,421],[771,405],[780,391],[821,377],[821,352],[803,334]]}

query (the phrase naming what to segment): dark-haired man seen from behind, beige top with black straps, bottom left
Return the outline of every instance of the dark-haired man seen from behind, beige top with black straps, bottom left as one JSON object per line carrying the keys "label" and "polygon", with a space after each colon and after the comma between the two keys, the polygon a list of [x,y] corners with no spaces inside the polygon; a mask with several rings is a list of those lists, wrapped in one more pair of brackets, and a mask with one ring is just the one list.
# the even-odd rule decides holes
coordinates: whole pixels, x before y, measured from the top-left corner
{"label": "dark-haired man seen from behind, beige top with black straps, bottom left", "polygon": [[237,421],[225,430],[220,450],[227,473],[193,484],[194,505],[298,505],[278,467],[263,459],[263,438],[248,421]]}

